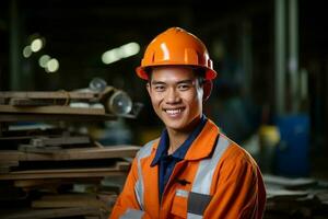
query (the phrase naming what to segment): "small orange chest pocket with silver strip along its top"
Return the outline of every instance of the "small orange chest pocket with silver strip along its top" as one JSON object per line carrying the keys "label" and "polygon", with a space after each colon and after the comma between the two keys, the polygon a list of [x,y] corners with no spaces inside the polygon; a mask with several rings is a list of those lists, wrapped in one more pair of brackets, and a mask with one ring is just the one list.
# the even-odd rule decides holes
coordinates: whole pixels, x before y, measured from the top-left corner
{"label": "small orange chest pocket with silver strip along its top", "polygon": [[175,197],[172,203],[171,214],[176,218],[187,218],[189,192],[176,189]]}

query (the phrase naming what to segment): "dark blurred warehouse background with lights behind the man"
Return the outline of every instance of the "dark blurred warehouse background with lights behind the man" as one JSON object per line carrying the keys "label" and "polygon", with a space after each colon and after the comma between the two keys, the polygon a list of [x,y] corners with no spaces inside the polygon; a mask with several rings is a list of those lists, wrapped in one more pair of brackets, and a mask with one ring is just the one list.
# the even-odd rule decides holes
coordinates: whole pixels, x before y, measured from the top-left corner
{"label": "dark blurred warehouse background with lights behind the man", "polygon": [[326,9],[317,0],[2,0],[0,90],[71,91],[102,78],[144,107],[91,132],[141,146],[162,124],[134,68],[156,34],[180,26],[204,42],[219,72],[207,116],[263,173],[328,180]]}

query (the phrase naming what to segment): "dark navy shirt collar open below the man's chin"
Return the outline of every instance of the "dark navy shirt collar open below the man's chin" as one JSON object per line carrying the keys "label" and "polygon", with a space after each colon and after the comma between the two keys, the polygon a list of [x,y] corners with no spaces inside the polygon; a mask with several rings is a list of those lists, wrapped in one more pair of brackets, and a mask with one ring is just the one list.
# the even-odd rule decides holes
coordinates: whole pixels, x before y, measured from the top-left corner
{"label": "dark navy shirt collar open below the man's chin", "polygon": [[[185,142],[176,151],[174,151],[172,157],[179,159],[179,160],[184,160],[188,149],[190,148],[190,146],[192,145],[192,142],[197,138],[197,136],[201,132],[207,120],[208,120],[207,117],[204,115],[202,115],[200,118],[200,123],[196,126],[196,128],[188,136],[188,138],[185,140]],[[169,142],[168,134],[167,134],[167,130],[164,129],[161,135],[156,154],[151,163],[151,166],[159,164],[160,160],[167,155],[168,142]]]}

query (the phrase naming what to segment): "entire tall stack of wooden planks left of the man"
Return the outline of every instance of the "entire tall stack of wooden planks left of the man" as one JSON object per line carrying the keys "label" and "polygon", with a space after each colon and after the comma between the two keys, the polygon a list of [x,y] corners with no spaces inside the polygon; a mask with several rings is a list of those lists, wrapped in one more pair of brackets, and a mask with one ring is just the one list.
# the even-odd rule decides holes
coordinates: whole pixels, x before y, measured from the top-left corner
{"label": "entire tall stack of wooden planks left of the man", "polygon": [[140,147],[102,146],[67,125],[117,118],[104,107],[69,104],[97,103],[110,91],[0,92],[0,218],[108,218],[120,189],[108,180],[125,181]]}

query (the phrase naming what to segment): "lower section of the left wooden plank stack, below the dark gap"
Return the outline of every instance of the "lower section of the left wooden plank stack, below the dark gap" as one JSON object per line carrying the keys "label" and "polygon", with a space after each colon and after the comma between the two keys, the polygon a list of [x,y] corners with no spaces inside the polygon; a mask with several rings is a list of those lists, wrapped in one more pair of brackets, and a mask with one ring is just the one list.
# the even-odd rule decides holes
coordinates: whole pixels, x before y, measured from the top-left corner
{"label": "lower section of the left wooden plank stack, below the dark gap", "polygon": [[[10,140],[8,136],[0,138],[5,139],[2,142],[14,139],[13,136]],[[21,143],[22,139],[26,143]],[[104,178],[126,177],[128,160],[140,149],[101,146],[86,136],[40,138],[33,135],[14,142],[21,145],[13,150],[0,149],[0,183],[11,182],[8,191],[12,186],[24,195],[14,198],[0,191],[2,201],[9,204],[14,199],[9,208],[0,207],[0,218],[107,218],[119,189],[102,183]],[[81,193],[74,189],[77,185],[86,185],[87,189]],[[23,208],[19,205],[22,201],[27,204]],[[3,206],[1,198],[0,205]]]}

